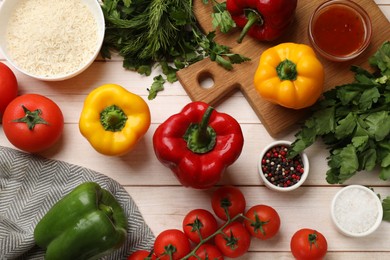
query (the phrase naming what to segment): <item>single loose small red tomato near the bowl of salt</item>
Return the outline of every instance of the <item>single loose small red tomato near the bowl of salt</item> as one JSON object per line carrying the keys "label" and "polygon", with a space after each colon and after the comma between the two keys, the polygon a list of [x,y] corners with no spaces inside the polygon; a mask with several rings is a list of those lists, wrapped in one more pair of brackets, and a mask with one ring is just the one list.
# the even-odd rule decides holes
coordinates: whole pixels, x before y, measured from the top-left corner
{"label": "single loose small red tomato near the bowl of salt", "polygon": [[328,243],[320,232],[303,228],[291,237],[290,248],[297,260],[320,260],[328,251]]}

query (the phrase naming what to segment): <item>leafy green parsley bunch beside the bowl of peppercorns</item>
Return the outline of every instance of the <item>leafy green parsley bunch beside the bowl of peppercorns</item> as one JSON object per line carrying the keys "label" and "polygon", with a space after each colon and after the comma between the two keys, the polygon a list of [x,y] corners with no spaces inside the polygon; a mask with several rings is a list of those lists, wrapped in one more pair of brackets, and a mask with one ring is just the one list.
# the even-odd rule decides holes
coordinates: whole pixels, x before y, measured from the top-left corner
{"label": "leafy green parsley bunch beside the bowl of peppercorns", "polygon": [[355,82],[324,93],[295,135],[288,152],[294,157],[321,138],[330,155],[326,180],[343,183],[358,171],[379,167],[390,179],[390,42],[369,59],[369,72],[352,66]]}

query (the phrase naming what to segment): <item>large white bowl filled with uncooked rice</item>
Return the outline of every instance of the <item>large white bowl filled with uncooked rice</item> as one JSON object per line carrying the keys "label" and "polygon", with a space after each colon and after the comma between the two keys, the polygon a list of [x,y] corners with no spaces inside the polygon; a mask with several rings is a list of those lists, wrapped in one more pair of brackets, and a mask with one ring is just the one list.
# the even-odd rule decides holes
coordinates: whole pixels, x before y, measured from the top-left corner
{"label": "large white bowl filled with uncooked rice", "polygon": [[3,0],[0,51],[20,72],[60,81],[87,69],[104,39],[97,0]]}

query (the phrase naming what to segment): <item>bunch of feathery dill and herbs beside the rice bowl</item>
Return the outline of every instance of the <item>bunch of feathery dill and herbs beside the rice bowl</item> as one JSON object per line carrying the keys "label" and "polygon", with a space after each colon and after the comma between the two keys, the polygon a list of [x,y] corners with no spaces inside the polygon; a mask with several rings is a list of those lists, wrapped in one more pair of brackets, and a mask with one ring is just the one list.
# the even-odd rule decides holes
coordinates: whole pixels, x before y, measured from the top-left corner
{"label": "bunch of feathery dill and herbs beside the rice bowl", "polygon": [[[215,8],[218,13],[210,14],[215,26],[231,28],[223,5]],[[110,59],[111,52],[116,51],[126,69],[146,76],[161,68],[163,75],[154,77],[148,88],[149,99],[154,99],[166,82],[177,81],[178,70],[206,57],[228,70],[249,60],[215,42],[214,31],[204,34],[200,30],[191,0],[104,0],[102,10],[106,22],[103,58]]]}

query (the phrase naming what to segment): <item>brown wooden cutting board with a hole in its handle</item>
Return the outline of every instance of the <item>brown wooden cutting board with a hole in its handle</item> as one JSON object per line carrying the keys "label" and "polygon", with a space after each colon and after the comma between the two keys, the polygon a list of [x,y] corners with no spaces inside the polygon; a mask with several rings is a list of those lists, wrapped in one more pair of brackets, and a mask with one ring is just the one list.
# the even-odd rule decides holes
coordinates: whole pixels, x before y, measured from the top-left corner
{"label": "brown wooden cutting board with a hole in its handle", "polygon": [[[373,0],[355,0],[355,2],[364,7],[371,17],[373,34],[370,46],[361,56],[348,62],[337,63],[318,57],[325,68],[325,90],[353,81],[350,66],[353,64],[369,68],[368,58],[383,42],[390,40],[390,23],[375,2]],[[238,44],[236,43],[240,31],[238,28],[228,34],[217,31],[218,43],[231,47],[232,52],[245,55],[251,58],[251,61],[235,64],[233,70],[227,71],[215,62],[204,59],[179,70],[177,76],[180,83],[193,101],[204,101],[213,106],[228,98],[232,92],[240,90],[271,136],[277,137],[285,133],[308,115],[308,109],[287,109],[262,99],[253,86],[254,73],[260,55],[265,49],[282,42],[309,44],[307,33],[309,19],[320,3],[320,1],[298,0],[295,19],[290,29],[282,38],[272,43],[258,42],[247,36],[241,44]],[[203,31],[206,33],[213,31],[211,4],[205,5],[201,0],[196,0],[194,12]],[[202,87],[201,83],[206,79],[212,79],[213,86]]]}

